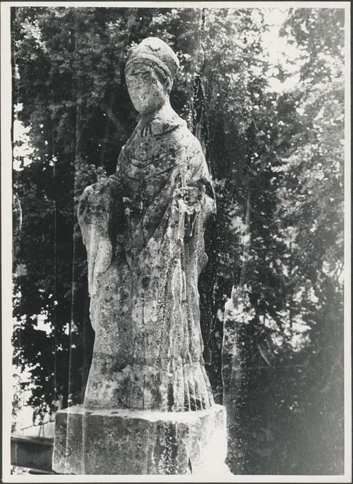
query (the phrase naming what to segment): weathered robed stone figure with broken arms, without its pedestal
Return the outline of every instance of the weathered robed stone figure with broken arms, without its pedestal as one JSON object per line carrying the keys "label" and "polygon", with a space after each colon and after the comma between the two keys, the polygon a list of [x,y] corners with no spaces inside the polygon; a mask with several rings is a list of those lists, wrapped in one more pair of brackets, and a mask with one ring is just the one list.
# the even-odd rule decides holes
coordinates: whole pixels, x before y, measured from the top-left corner
{"label": "weathered robed stone figure with broken arms, without its pedestal", "polygon": [[198,276],[215,211],[200,143],[169,102],[178,57],[144,39],[126,64],[141,114],[116,173],[87,187],[79,224],[95,330],[85,407],[208,409]]}

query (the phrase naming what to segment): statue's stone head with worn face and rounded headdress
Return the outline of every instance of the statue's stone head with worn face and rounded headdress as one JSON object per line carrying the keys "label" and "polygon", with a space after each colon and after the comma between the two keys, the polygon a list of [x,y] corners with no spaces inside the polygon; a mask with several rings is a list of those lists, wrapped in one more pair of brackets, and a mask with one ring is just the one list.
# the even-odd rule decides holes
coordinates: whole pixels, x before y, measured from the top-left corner
{"label": "statue's stone head with worn face and rounded headdress", "polygon": [[141,114],[160,109],[169,97],[178,57],[158,37],[148,37],[133,50],[125,67],[126,85]]}

